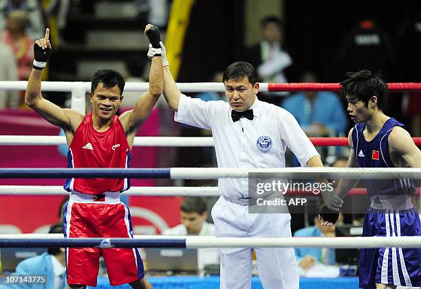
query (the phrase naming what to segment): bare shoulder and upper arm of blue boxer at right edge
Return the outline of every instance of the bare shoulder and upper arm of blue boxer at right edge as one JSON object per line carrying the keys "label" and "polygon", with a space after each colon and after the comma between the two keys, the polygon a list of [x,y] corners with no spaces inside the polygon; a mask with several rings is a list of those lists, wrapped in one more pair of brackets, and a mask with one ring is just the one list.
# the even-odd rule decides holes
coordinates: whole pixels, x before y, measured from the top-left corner
{"label": "bare shoulder and upper arm of blue boxer at right edge", "polygon": [[421,150],[415,146],[407,130],[395,126],[389,135],[389,148],[398,153],[410,167],[421,167]]}

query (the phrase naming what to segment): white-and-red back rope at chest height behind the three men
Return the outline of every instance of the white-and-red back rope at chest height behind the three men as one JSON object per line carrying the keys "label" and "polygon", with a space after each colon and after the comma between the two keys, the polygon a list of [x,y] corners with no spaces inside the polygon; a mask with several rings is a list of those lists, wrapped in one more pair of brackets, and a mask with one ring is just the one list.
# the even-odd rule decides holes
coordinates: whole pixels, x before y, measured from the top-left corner
{"label": "white-and-red back rope at chest height behind the three men", "polygon": [[[421,146],[421,137],[413,137]],[[314,146],[349,146],[347,137],[310,137]],[[0,135],[0,146],[58,146],[67,144],[58,135]],[[135,137],[133,146],[204,147],[214,146],[213,137]]]}

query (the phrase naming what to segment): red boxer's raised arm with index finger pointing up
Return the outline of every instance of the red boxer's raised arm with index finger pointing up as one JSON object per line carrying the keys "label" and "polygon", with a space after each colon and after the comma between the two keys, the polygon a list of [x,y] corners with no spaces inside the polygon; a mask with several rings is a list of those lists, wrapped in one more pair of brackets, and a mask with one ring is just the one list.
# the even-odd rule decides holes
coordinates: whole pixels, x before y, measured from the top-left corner
{"label": "red boxer's raised arm with index finger pointing up", "polygon": [[83,115],[70,109],[63,109],[45,100],[41,95],[41,73],[50,58],[50,30],[45,30],[45,37],[34,43],[34,68],[31,71],[25,93],[25,104],[44,117],[47,122],[60,126],[64,130],[74,131],[83,119]]}

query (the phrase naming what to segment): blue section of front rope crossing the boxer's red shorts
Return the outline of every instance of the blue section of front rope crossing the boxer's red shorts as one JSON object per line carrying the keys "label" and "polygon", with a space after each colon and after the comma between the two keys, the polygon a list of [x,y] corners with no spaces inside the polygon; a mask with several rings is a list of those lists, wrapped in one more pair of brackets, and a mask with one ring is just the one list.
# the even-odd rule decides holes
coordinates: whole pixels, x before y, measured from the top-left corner
{"label": "blue section of front rope crossing the boxer's red shorts", "polygon": [[0,248],[186,248],[186,239],[138,240],[129,238],[0,239]]}

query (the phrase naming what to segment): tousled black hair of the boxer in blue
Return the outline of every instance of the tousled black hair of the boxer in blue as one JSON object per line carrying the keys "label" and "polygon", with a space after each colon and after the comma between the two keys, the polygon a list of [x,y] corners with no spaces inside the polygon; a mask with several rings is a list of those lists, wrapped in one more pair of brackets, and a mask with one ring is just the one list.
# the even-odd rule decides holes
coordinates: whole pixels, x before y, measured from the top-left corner
{"label": "tousled black hair of the boxer in blue", "polygon": [[380,111],[385,109],[385,100],[389,85],[383,80],[380,71],[363,69],[358,72],[347,73],[347,78],[341,82],[342,97],[355,97],[368,106],[372,96],[377,97],[377,106]]}

